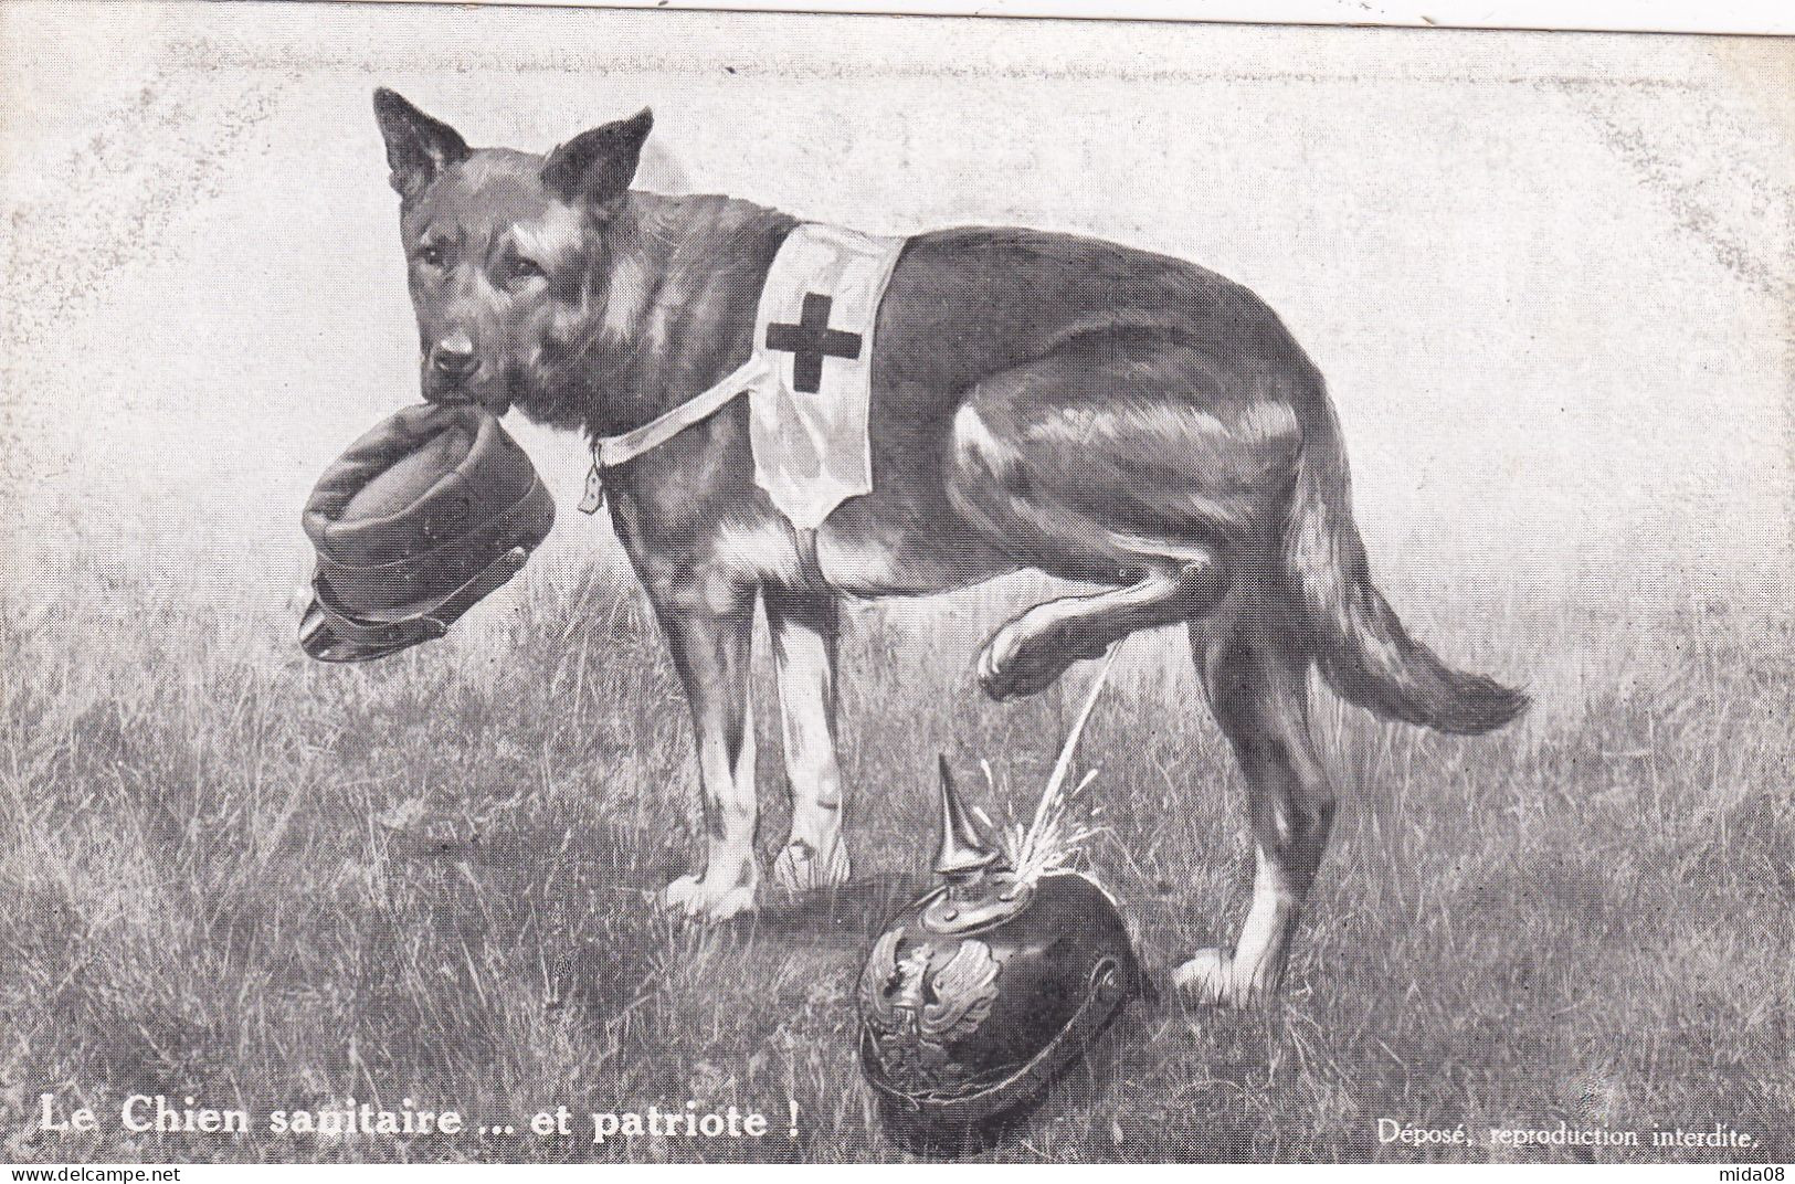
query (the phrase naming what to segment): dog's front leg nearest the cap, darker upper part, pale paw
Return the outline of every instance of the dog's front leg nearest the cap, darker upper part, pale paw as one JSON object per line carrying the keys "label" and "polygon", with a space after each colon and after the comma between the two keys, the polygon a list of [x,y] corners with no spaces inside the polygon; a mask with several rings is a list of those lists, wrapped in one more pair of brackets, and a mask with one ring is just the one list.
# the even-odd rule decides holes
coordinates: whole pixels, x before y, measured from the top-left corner
{"label": "dog's front leg nearest the cap, darker upper part, pale paw", "polygon": [[723,612],[700,597],[657,597],[661,624],[698,741],[698,791],[707,854],[702,874],[680,875],[662,892],[668,908],[725,920],[754,908],[754,718],[749,705],[749,646],[754,597]]}

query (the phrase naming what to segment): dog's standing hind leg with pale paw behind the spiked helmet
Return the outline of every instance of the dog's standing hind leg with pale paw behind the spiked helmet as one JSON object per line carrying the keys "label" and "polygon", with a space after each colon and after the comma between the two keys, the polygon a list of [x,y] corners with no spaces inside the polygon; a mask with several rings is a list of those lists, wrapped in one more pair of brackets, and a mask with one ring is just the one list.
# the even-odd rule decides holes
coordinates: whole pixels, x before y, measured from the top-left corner
{"label": "dog's standing hind leg with pale paw behind the spiked helmet", "polygon": [[1253,633],[1222,619],[1190,626],[1210,709],[1246,775],[1255,858],[1253,904],[1233,954],[1204,949],[1174,972],[1179,990],[1203,1003],[1240,1005],[1278,988],[1334,825],[1334,789],[1309,732],[1309,658],[1294,651],[1289,626],[1256,624]]}

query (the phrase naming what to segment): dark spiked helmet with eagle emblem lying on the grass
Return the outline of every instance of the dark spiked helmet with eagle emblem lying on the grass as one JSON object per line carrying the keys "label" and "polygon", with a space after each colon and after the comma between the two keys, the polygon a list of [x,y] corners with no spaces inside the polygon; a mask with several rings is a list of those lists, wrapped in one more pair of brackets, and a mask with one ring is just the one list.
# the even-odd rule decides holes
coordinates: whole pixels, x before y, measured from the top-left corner
{"label": "dark spiked helmet with eagle emblem lying on the grass", "polygon": [[1090,877],[1018,877],[941,761],[941,877],[872,944],[860,1062],[894,1134],[953,1145],[1039,1100],[1151,994],[1116,902]]}

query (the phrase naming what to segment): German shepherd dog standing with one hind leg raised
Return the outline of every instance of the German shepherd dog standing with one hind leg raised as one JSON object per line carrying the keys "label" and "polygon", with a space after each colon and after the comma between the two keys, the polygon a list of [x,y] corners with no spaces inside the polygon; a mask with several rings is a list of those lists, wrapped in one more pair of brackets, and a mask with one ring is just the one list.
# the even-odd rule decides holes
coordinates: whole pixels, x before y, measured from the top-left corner
{"label": "German shepherd dog standing with one hind leg raised", "polygon": [[[720,382],[797,219],[630,188],[650,111],[546,156],[474,151],[375,91],[418,314],[424,395],[596,440]],[[1335,797],[1309,669],[1386,719],[1484,732],[1526,696],[1445,666],[1371,583],[1321,373],[1253,292],[1097,239],[960,228],[910,239],[872,346],[872,492],[801,538],[754,483],[745,400],[607,470],[610,520],[691,701],[704,868],[666,906],[754,908],[754,606],[770,624],[793,814],[792,892],[849,877],[836,764],[844,596],[923,596],[1038,569],[1097,585],[1029,608],[978,655],[994,700],[1041,691],[1136,630],[1185,624],[1251,791],[1253,904],[1235,949],[1174,972],[1274,990]]]}

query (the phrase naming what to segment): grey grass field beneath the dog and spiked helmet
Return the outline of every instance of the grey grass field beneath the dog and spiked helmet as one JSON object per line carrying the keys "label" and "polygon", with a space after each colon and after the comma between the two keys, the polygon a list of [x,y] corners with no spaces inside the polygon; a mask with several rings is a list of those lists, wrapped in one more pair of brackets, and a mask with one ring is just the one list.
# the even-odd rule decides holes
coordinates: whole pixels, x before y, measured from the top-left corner
{"label": "grey grass field beneath the dog and spiked helmet", "polygon": [[[635,594],[531,569],[456,633],[307,662],[284,605],[212,606],[74,565],[0,617],[0,1157],[889,1159],[851,1058],[853,983],[921,883],[932,766],[989,759],[1020,807],[1091,676],[996,707],[971,683],[1002,594],[928,630],[849,622],[860,883],[695,929],[648,892],[695,847],[689,725]],[[99,599],[101,588],[106,597]],[[1397,588],[1465,664],[1554,671],[1483,741],[1318,694],[1343,786],[1287,997],[1138,1006],[1000,1159],[1795,1159],[1795,630],[1707,597],[1612,612]],[[1240,782],[1181,639],[1136,639],[1086,736],[1091,865],[1163,974],[1231,940]],[[1170,657],[1169,657],[1170,655]],[[763,845],[784,775],[761,678]],[[982,779],[964,780],[980,786]],[[39,1094],[95,1132],[39,1132]],[[131,1134],[129,1094],[251,1134]],[[573,1137],[271,1136],[354,1096]],[[761,1139],[591,1143],[594,1110],[731,1103]],[[792,1119],[795,1103],[795,1123]],[[1379,1119],[1468,1145],[1379,1141]],[[1639,1148],[1492,1146],[1490,1127]],[[1651,1148],[1659,1128],[1754,1150]],[[790,1128],[795,1125],[797,1137]]]}

